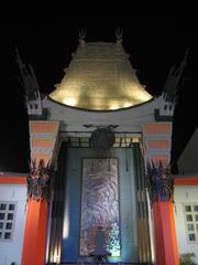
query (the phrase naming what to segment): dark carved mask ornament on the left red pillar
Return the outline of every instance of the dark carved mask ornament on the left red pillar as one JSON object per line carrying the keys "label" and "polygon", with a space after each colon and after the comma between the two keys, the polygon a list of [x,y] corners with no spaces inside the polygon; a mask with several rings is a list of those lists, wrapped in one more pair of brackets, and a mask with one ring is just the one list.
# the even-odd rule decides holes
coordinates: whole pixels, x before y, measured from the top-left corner
{"label": "dark carved mask ornament on the left red pillar", "polygon": [[53,171],[54,167],[51,165],[51,160],[46,166],[43,159],[38,163],[36,160],[32,160],[28,176],[28,200],[50,201]]}

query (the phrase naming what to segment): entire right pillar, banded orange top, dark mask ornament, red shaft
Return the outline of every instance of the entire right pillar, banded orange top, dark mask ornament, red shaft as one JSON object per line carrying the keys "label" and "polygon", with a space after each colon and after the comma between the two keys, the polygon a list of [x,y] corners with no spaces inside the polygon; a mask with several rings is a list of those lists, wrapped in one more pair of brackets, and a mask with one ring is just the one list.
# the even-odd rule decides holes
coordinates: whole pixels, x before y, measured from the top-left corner
{"label": "entire right pillar, banded orange top, dark mask ornament, red shaft", "polygon": [[173,179],[168,171],[172,123],[145,124],[142,131],[153,212],[155,262],[158,265],[178,265],[179,257],[172,201]]}

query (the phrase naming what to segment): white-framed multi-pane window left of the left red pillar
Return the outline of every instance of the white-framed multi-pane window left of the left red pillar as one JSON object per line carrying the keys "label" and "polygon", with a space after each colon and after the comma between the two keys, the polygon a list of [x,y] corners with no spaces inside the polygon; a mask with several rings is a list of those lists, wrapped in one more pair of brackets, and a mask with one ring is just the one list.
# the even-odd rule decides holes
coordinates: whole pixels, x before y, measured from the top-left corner
{"label": "white-framed multi-pane window left of the left red pillar", "polygon": [[0,201],[0,241],[11,241],[16,213],[15,202]]}

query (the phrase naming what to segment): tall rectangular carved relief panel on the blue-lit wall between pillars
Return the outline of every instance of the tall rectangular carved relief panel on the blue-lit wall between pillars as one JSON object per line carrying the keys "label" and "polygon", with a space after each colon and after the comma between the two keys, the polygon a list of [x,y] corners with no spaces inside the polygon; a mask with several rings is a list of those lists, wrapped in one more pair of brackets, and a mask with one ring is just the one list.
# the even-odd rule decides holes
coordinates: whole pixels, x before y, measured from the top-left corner
{"label": "tall rectangular carved relief panel on the blue-lit wall between pillars", "polygon": [[120,256],[118,159],[82,159],[80,255],[96,248],[96,233],[102,226],[106,248]]}

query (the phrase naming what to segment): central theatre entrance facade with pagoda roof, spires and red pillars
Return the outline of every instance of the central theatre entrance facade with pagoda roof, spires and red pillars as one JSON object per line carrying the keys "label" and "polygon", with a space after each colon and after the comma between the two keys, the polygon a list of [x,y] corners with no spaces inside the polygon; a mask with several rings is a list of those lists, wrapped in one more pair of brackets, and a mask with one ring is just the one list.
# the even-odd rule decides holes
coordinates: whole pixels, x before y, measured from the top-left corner
{"label": "central theatre entrance facade with pagoda roof, spires and red pillars", "polygon": [[32,160],[21,264],[90,263],[98,227],[108,263],[179,264],[169,163],[184,62],[157,98],[140,84],[119,32],[114,43],[82,33],[45,97],[19,54],[18,64]]}

